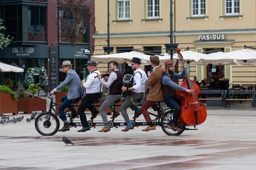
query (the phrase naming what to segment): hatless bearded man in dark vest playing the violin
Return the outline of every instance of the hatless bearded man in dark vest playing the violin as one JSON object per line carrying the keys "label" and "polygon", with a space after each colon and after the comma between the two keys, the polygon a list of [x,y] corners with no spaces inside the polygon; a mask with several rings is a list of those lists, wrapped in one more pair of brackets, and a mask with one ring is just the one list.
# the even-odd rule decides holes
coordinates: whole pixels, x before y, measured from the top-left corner
{"label": "hatless bearded man in dark vest playing the violin", "polygon": [[[100,80],[100,83],[105,86],[106,88],[110,87],[109,89],[109,95],[106,97],[106,100],[102,103],[100,106],[100,115],[102,117],[103,123],[105,127],[101,129],[98,132],[108,132],[110,131],[110,127],[108,124],[108,117],[106,115],[105,110],[111,106],[112,103],[116,102],[116,100],[120,100],[122,97],[122,85],[123,85],[123,74],[118,70],[118,63],[116,61],[110,61],[109,63],[109,70],[110,73],[108,77],[108,81],[104,82],[101,79],[101,76],[98,75],[98,79]],[[115,115],[114,115],[115,116]]]}

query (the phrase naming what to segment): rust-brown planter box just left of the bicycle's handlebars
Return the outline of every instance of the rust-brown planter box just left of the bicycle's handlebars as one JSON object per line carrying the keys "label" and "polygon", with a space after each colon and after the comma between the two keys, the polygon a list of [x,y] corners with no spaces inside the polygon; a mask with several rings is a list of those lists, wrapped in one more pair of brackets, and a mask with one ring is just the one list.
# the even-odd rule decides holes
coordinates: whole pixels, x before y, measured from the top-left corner
{"label": "rust-brown planter box just left of the bicycle's handlebars", "polygon": [[18,111],[31,114],[32,111],[46,111],[46,100],[42,98],[23,98],[17,100]]}

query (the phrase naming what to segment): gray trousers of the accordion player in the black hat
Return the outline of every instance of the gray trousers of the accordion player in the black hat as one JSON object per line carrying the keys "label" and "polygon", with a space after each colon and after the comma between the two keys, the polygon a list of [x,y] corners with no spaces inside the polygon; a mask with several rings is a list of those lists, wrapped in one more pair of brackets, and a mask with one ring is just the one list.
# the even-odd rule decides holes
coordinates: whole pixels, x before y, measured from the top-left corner
{"label": "gray trousers of the accordion player in the black hat", "polygon": [[120,106],[120,111],[126,123],[130,121],[126,109],[130,107],[132,110],[134,110],[135,106],[132,106],[133,105],[132,100],[135,102],[136,100],[140,100],[142,98],[143,98],[143,93],[132,92],[132,99],[130,96],[123,99],[123,104],[122,106]]}

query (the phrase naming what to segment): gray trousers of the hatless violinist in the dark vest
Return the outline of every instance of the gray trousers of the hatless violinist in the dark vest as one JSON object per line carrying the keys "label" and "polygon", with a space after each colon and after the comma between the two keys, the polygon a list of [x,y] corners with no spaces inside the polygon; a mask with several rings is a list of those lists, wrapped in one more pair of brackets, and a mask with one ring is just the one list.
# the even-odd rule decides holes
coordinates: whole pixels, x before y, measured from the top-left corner
{"label": "gray trousers of the hatless violinist in the dark vest", "polygon": [[105,124],[105,127],[108,127],[108,117],[106,115],[105,110],[111,106],[112,103],[116,102],[116,100],[121,99],[121,94],[120,95],[109,95],[106,97],[102,105],[100,106],[100,115],[102,117],[103,123]]}

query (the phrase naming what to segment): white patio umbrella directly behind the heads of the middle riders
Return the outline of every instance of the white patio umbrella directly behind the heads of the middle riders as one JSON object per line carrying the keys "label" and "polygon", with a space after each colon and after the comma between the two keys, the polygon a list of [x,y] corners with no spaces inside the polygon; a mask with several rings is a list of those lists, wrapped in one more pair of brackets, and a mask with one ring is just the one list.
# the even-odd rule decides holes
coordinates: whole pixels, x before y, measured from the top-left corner
{"label": "white patio umbrella directly behind the heads of the middle riders", "polygon": [[92,56],[91,59],[98,62],[109,62],[116,59],[116,62],[118,63],[131,63],[133,57],[138,57],[139,59],[141,59],[141,63],[145,64],[146,60],[149,59],[150,55],[130,51],[125,53]]}

